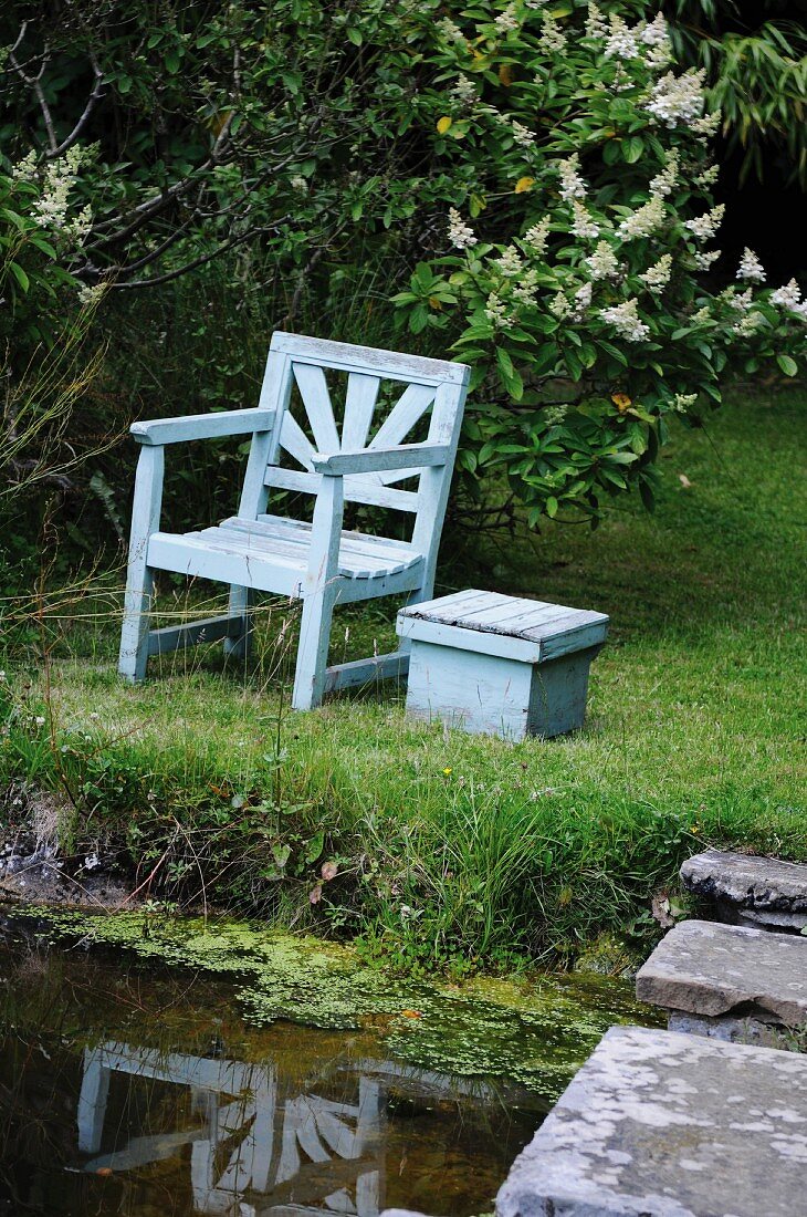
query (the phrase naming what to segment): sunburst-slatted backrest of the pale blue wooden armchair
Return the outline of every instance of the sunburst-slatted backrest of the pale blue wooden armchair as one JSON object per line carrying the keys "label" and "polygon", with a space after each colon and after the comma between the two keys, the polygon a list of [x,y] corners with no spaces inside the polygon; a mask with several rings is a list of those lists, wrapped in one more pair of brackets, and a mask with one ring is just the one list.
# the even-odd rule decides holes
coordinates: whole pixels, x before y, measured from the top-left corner
{"label": "sunburst-slatted backrest of the pale blue wooden armchair", "polygon": [[271,487],[316,494],[316,452],[332,455],[428,438],[450,447],[448,464],[346,475],[344,495],[416,514],[412,539],[429,548],[442,527],[468,376],[464,364],[275,333],[259,405],[276,409],[280,426],[253,441],[239,515],[264,512]]}

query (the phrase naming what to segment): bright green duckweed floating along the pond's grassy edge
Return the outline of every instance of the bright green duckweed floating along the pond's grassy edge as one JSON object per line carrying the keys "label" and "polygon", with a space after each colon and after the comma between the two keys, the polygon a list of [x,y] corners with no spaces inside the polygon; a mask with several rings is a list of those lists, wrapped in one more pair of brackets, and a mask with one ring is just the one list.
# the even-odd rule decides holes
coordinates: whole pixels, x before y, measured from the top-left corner
{"label": "bright green duckweed floating along the pond's grassy edge", "polygon": [[350,947],[233,920],[159,919],[9,909],[36,933],[105,944],[142,959],[231,976],[243,1016],[329,1030],[372,1026],[399,1059],[446,1073],[507,1077],[555,1098],[615,1022],[655,1021],[631,987],[602,977],[474,980],[462,986],[390,980]]}

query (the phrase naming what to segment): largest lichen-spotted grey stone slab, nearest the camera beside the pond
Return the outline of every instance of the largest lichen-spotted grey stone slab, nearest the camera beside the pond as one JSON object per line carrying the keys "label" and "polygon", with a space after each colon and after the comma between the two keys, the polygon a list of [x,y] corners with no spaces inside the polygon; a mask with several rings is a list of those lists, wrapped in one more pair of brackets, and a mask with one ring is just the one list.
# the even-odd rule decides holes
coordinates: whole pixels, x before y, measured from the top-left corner
{"label": "largest lichen-spotted grey stone slab, nearest the camera beside the pond", "polygon": [[611,1027],[498,1193],[497,1217],[807,1213],[807,1059]]}

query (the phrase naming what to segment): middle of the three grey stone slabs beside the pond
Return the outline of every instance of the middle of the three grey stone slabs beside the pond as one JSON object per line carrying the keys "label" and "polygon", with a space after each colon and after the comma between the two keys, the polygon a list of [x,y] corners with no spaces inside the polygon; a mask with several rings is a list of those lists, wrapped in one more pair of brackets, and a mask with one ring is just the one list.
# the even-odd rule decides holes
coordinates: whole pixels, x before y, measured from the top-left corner
{"label": "middle of the three grey stone slabs beside the pond", "polygon": [[807,938],[715,921],[681,921],[636,976],[640,1002],[709,1017],[807,1023]]}

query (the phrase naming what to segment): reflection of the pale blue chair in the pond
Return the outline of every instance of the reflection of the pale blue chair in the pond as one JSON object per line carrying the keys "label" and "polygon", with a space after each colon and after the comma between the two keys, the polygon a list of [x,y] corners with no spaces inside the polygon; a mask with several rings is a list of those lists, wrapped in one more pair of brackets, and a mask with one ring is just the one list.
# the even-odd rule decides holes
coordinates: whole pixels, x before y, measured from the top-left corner
{"label": "reflection of the pale blue chair in the pond", "polygon": [[[113,1073],[190,1087],[202,1127],[134,1137],[122,1149],[97,1156]],[[359,1079],[357,1103],[315,1094],[284,1097],[271,1065],[106,1043],[84,1054],[78,1132],[81,1152],[96,1155],[84,1166],[89,1172],[148,1166],[190,1144],[193,1207],[201,1213],[377,1217],[383,1205],[382,1093],[366,1077]],[[337,1188],[327,1195],[333,1179],[325,1163],[342,1163],[333,1171]],[[249,1202],[243,1199],[247,1194]],[[260,1202],[261,1194],[267,1202]]]}

